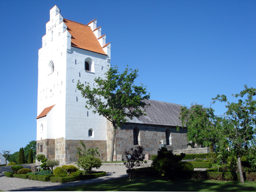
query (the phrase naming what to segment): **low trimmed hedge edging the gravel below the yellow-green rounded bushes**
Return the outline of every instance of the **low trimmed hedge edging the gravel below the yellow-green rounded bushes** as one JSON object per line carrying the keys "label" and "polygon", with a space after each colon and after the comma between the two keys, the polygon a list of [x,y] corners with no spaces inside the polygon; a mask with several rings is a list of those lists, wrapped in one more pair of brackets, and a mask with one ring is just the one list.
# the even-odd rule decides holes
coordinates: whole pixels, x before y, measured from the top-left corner
{"label": "low trimmed hedge edging the gravel below the yellow-green rounded bushes", "polygon": [[106,176],[106,172],[95,172],[91,173],[90,175],[80,175],[74,177],[51,177],[51,182],[53,183],[66,183],[66,182],[74,182],[77,180],[86,180],[86,179],[94,179],[97,177]]}

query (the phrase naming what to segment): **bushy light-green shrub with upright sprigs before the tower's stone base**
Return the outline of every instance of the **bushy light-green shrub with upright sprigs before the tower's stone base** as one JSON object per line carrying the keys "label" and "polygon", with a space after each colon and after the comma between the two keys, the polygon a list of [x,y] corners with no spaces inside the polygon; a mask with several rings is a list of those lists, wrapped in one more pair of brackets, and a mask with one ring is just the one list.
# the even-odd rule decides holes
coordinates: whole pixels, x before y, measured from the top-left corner
{"label": "bushy light-green shrub with upright sprigs before the tower's stone base", "polygon": [[84,170],[84,175],[87,173],[91,173],[91,169],[100,168],[102,165],[101,159],[94,157],[95,155],[100,156],[97,151],[98,148],[95,149],[86,149],[86,145],[83,141],[80,141],[83,149],[77,147],[77,154],[79,155],[77,166]]}

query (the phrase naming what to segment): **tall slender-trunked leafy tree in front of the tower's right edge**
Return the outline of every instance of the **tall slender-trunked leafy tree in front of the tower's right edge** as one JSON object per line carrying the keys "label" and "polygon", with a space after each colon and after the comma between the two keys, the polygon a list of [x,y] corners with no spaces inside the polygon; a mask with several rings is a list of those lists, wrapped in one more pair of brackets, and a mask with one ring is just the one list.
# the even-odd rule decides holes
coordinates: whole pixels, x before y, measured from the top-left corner
{"label": "tall slender-trunked leafy tree in front of the tower's right edge", "polygon": [[95,78],[97,86],[91,88],[90,84],[85,86],[77,83],[77,89],[86,98],[86,108],[93,109],[94,113],[104,116],[112,125],[111,159],[113,161],[115,135],[118,127],[127,121],[127,118],[145,115],[143,108],[146,104],[144,99],[149,99],[146,88],[135,86],[134,80],[138,76],[138,70],[126,69],[118,73],[118,67],[110,67],[105,77]]}

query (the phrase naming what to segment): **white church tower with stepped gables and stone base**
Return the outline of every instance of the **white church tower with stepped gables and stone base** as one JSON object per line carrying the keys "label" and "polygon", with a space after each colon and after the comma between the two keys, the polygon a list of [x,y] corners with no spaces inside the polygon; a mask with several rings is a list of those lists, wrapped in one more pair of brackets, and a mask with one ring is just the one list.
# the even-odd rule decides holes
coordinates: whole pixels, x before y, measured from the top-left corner
{"label": "white church tower with stepped gables and stone base", "polygon": [[106,161],[106,119],[85,108],[77,81],[95,86],[111,61],[111,44],[97,19],[81,24],[50,10],[38,51],[37,154],[61,163],[76,161],[76,146],[98,147]]}

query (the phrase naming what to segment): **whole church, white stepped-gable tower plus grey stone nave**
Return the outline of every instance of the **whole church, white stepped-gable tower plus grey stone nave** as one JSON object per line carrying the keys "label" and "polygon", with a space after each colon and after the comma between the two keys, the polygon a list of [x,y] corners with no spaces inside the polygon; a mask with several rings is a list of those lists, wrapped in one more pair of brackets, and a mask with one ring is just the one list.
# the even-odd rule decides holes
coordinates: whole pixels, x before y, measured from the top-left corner
{"label": "whole church, white stepped-gable tower plus grey stone nave", "polygon": [[[111,44],[97,27],[97,19],[81,24],[65,19],[55,5],[46,23],[38,51],[37,154],[61,163],[76,162],[80,141],[98,147],[103,161],[111,154],[112,125],[85,108],[77,81],[96,86],[111,66]],[[157,154],[161,141],[168,150],[186,150],[186,129],[181,126],[181,105],[147,100],[147,116],[129,120],[116,131],[114,159],[141,145],[145,154]]]}

